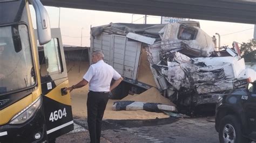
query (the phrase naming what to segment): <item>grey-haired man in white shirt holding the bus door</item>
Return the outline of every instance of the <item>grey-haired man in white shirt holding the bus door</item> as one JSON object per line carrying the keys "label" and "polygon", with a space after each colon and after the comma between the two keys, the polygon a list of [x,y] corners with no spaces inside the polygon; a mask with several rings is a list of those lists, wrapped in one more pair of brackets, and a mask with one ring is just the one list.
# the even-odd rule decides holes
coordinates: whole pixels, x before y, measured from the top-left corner
{"label": "grey-haired man in white shirt holding the bus door", "polygon": [[[100,133],[102,128],[102,118],[109,100],[109,92],[117,87],[123,80],[122,76],[117,73],[110,65],[103,61],[104,54],[102,51],[92,53],[92,65],[83,76],[83,80],[66,88],[72,91],[76,88],[84,87],[89,83],[89,93],[87,97],[87,123],[90,133],[91,142],[100,142]],[[115,80],[110,85],[112,78]]]}

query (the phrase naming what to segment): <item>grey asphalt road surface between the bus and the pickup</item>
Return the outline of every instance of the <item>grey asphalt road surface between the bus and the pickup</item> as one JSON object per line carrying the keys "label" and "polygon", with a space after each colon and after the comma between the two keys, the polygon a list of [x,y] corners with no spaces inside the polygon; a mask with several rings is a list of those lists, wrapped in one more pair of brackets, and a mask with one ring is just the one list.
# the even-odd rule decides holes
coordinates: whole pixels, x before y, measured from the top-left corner
{"label": "grey asphalt road surface between the bus and the pickup", "polygon": [[[104,120],[101,142],[219,142],[214,117],[154,120]],[[86,119],[75,117],[76,130],[56,142],[90,142]]]}

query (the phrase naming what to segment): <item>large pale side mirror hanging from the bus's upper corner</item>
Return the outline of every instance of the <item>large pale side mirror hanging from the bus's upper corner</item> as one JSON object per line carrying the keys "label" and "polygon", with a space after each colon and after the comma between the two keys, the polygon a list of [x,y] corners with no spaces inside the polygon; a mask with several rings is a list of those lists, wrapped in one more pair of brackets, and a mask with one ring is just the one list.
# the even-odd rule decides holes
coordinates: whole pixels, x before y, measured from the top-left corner
{"label": "large pale side mirror hanging from the bus's upper corner", "polygon": [[49,15],[39,0],[29,0],[36,11],[37,37],[40,45],[51,40],[51,27]]}

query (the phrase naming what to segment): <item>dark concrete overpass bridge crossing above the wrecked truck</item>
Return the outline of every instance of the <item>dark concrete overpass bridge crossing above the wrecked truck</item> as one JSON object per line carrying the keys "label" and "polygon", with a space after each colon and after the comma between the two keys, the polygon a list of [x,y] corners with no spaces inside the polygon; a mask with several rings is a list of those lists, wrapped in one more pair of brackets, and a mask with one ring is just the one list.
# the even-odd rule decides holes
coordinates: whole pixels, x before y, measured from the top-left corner
{"label": "dark concrete overpass bridge crossing above the wrecked truck", "polygon": [[256,0],[41,0],[44,5],[256,24]]}

